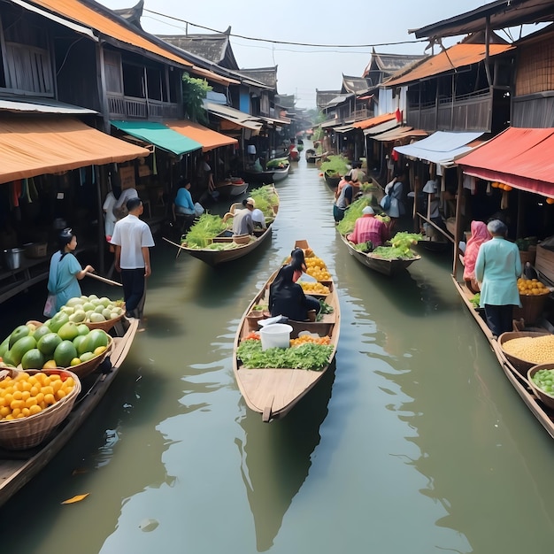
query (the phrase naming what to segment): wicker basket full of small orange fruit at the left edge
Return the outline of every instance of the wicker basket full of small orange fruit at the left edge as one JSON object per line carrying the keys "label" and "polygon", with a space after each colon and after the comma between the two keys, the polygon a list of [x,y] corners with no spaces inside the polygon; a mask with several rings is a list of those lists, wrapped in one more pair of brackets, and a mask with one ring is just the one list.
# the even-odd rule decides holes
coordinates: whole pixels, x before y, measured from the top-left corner
{"label": "wicker basket full of small orange fruit at the left edge", "polygon": [[73,409],[81,381],[65,369],[0,366],[0,446],[26,450],[43,442]]}

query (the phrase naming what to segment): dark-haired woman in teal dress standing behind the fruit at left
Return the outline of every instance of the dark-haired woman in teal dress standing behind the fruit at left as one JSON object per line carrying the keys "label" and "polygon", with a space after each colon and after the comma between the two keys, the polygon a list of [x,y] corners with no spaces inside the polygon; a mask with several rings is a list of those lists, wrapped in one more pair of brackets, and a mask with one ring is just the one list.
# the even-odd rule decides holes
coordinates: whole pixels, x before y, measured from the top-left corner
{"label": "dark-haired woman in teal dress standing behind the fruit at left", "polygon": [[45,315],[53,316],[70,298],[81,296],[79,281],[87,273],[94,273],[92,265],[81,267],[73,254],[76,248],[77,237],[71,229],[64,229],[59,235],[59,250],[50,258],[48,277],[48,291],[56,296],[56,309]]}

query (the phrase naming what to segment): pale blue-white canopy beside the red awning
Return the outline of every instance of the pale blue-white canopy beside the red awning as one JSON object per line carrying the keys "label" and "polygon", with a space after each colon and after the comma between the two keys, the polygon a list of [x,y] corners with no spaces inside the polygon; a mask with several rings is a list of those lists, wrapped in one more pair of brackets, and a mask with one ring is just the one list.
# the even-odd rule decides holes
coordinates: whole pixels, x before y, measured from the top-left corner
{"label": "pale blue-white canopy beside the red awning", "polygon": [[434,164],[451,167],[454,165],[454,158],[472,150],[472,147],[468,146],[469,142],[473,142],[481,135],[483,134],[480,132],[447,133],[437,131],[413,144],[395,146],[394,150],[410,158],[425,159]]}

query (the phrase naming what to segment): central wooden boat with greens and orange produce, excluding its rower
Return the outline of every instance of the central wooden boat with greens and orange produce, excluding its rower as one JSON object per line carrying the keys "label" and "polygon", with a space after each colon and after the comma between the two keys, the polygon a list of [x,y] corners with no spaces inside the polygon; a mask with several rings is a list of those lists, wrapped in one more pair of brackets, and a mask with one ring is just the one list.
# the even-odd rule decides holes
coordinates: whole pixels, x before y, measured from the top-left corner
{"label": "central wooden boat with greens and orange produce, excluding its rower", "polygon": [[335,358],[339,340],[339,299],[327,267],[306,241],[297,241],[295,247],[304,250],[306,273],[319,280],[302,285],[306,294],[319,297],[318,319],[289,320],[290,342],[288,335],[285,337],[289,347],[262,350],[265,331],[256,332],[258,323],[252,319],[252,312],[256,312],[255,308],[266,309],[277,270],[242,314],[235,335],[233,371],[237,385],[250,410],[260,413],[265,422],[286,416],[319,382]]}

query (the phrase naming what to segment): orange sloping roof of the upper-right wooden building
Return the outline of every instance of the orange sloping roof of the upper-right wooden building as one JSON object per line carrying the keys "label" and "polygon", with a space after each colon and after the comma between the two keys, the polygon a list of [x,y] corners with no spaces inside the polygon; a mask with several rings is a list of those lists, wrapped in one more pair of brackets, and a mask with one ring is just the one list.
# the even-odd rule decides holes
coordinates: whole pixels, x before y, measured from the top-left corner
{"label": "orange sloping roof of the upper-right wooden building", "polygon": [[[513,47],[510,44],[490,44],[489,56],[497,56]],[[476,64],[485,59],[486,49],[484,44],[455,44],[440,54],[427,58],[412,71],[404,73],[401,77],[390,79],[385,87],[397,87],[413,81],[428,79],[441,73],[451,72],[458,67]]]}

